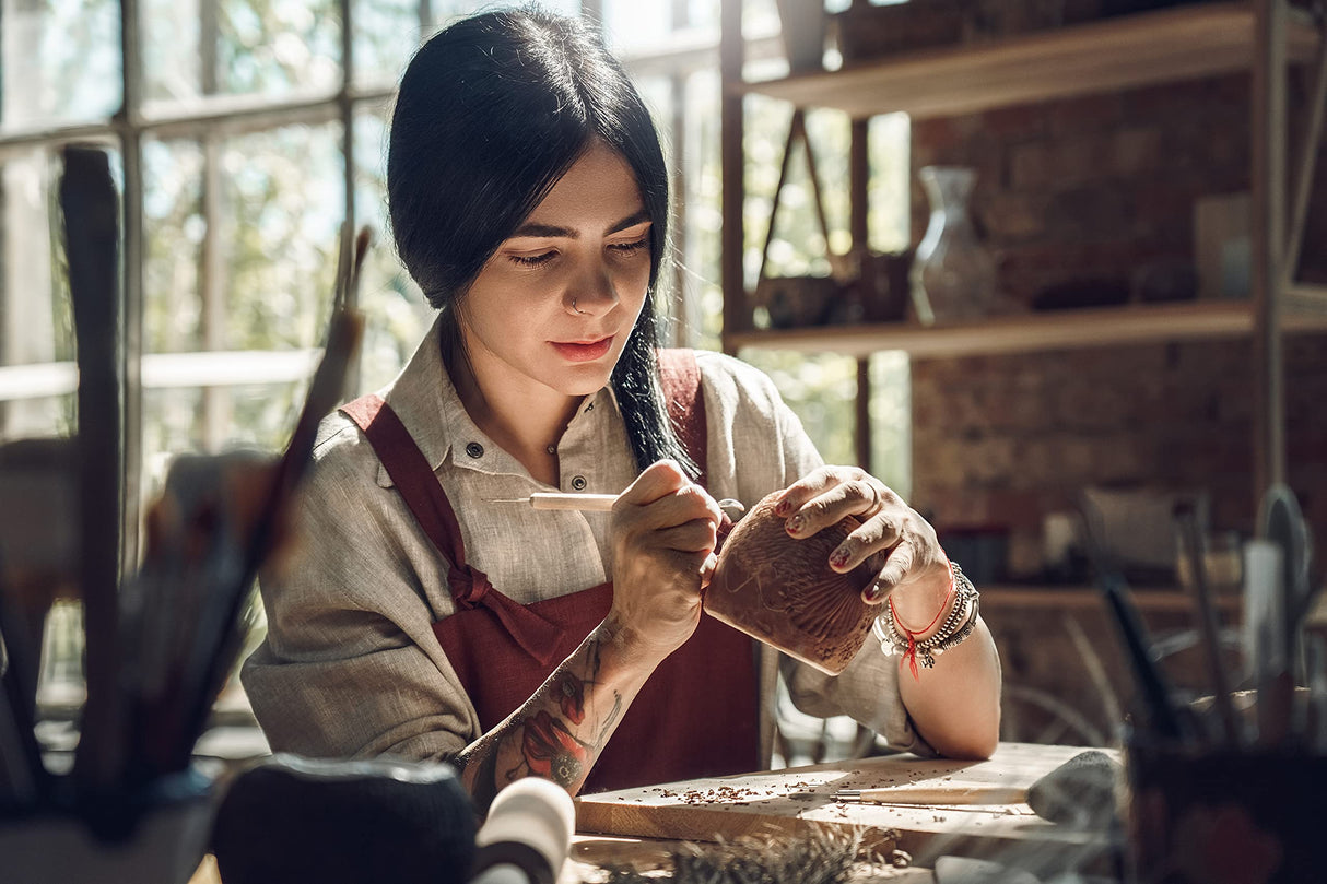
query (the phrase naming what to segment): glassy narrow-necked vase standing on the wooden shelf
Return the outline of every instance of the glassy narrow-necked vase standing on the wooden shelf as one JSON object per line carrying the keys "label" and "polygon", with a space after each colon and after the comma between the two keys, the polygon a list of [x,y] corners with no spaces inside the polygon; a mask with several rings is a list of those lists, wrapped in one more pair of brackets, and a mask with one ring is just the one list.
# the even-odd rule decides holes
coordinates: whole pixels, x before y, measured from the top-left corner
{"label": "glassy narrow-necked vase standing on the wooden shelf", "polygon": [[930,200],[930,223],[910,275],[918,321],[955,323],[998,312],[995,261],[967,214],[975,170],[926,166],[918,177]]}

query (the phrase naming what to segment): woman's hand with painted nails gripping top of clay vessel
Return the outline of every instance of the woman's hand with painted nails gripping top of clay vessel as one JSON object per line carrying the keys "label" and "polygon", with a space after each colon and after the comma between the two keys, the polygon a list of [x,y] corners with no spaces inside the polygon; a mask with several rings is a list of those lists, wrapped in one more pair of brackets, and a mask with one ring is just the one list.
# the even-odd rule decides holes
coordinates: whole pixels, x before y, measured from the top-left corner
{"label": "woman's hand with painted nails gripping top of clay vessel", "polygon": [[905,587],[908,595],[914,595],[916,588],[921,597],[942,597],[949,591],[949,560],[940,548],[936,530],[892,488],[864,470],[820,467],[788,486],[775,512],[787,519],[788,535],[798,539],[809,538],[844,516],[857,516],[861,526],[829,553],[829,567],[847,573],[877,556],[881,560],[878,572],[861,591],[868,604],[880,604]]}

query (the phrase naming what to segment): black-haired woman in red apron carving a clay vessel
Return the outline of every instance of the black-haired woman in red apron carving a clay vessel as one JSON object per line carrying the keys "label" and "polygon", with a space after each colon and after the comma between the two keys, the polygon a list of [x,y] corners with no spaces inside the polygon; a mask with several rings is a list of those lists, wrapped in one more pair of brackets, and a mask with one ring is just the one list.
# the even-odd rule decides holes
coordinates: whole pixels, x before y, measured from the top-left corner
{"label": "black-haired woman in red apron carving a clay vessel", "polygon": [[[993,751],[999,662],[932,527],[823,467],[759,372],[657,353],[664,157],[581,23],[495,12],[433,37],[402,78],[387,187],[441,313],[381,398],[321,429],[307,543],[263,583],[244,669],[275,750],[447,758],[480,804],[529,774],[575,794],[759,769],[778,661],[702,617],[701,592],[715,499],[787,488],[794,538],[864,519],[831,565],[878,563],[863,592],[890,600],[913,664],[910,641],[953,644],[917,677],[876,642],[835,678],[783,660],[795,702],[901,749]],[[621,496],[610,515],[502,502],[549,488]]]}

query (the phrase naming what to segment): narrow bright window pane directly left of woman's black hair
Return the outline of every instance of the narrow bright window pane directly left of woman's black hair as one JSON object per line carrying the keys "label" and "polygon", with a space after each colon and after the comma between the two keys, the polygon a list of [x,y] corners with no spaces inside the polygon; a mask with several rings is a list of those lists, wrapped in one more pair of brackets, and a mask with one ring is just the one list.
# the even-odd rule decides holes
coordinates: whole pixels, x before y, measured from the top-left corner
{"label": "narrow bright window pane directly left of woman's black hair", "polygon": [[397,376],[437,316],[397,259],[387,226],[386,122],[381,111],[356,115],[358,224],[373,230],[373,246],[360,279],[365,316],[360,348],[360,392],[382,388]]}

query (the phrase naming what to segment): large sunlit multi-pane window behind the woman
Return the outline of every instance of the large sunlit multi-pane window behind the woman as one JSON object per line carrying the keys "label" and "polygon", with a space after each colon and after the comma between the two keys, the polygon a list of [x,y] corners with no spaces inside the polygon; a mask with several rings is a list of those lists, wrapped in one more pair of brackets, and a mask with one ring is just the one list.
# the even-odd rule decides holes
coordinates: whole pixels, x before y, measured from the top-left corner
{"label": "large sunlit multi-pane window behind the woman", "polygon": [[[746,1],[752,64],[778,66],[774,0]],[[284,445],[326,325],[348,215],[378,239],[360,293],[368,329],[357,386],[376,389],[395,374],[433,311],[385,242],[394,85],[421,35],[504,4],[141,0],[131,7],[139,20],[127,23],[139,38],[123,46],[114,0],[0,4],[0,443],[66,437],[77,426],[53,208],[60,150],[76,141],[105,145],[126,203],[142,206],[139,222],[123,231],[126,296],[141,317],[130,353],[141,369],[141,417],[129,446],[139,499],[155,492],[182,451]],[[673,337],[718,348],[718,0],[591,5],[656,113],[677,181]],[[787,113],[754,98],[748,106],[747,231],[756,252],[776,174],[771,150],[782,145]],[[906,121],[882,118],[873,127],[872,239],[889,248],[906,238]],[[847,123],[819,114],[812,129],[832,191],[845,178]],[[829,211],[844,230],[845,206]],[[813,230],[809,216],[792,223]],[[819,260],[815,240],[787,235],[780,260],[787,268]],[[751,360],[774,376],[829,461],[855,458],[853,362],[778,353]],[[876,434],[877,471],[905,488],[906,360],[885,354],[872,370],[877,426],[897,430]],[[60,681],[76,669],[76,609],[62,608],[52,624],[60,636],[48,641],[54,656],[46,676]]]}

